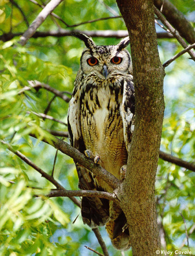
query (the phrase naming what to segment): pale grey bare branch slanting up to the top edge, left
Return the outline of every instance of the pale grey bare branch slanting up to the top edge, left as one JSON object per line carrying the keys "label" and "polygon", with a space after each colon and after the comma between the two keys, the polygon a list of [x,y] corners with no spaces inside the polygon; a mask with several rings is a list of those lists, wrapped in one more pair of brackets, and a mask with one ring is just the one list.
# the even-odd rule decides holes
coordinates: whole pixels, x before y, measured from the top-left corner
{"label": "pale grey bare branch slanting up to the top edge, left", "polygon": [[36,19],[31,23],[29,28],[24,32],[20,38],[20,44],[25,45],[29,38],[36,32],[37,28],[43,23],[48,15],[62,2],[62,0],[51,0]]}

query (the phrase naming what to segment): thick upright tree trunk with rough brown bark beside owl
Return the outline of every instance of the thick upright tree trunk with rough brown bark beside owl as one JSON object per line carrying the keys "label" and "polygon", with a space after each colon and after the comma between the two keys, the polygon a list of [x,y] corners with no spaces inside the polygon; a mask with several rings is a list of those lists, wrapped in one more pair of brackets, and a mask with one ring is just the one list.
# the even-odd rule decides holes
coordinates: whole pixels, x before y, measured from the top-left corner
{"label": "thick upright tree trunk with rough brown bark beside owl", "polygon": [[127,217],[133,256],[155,256],[161,247],[155,211],[155,174],[164,116],[163,79],[152,0],[117,0],[133,62],[136,119],[127,174],[116,194]]}

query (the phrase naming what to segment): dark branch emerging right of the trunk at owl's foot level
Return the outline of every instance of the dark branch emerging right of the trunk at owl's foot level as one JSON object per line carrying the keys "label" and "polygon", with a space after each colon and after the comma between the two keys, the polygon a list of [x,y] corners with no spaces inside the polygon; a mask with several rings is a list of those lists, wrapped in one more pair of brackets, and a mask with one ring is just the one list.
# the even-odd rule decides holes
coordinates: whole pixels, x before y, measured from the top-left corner
{"label": "dark branch emerging right of the trunk at owl's foot level", "polygon": [[171,154],[167,154],[163,151],[160,151],[159,157],[167,162],[175,163],[178,166],[184,167],[190,171],[195,172],[195,164],[194,163],[189,163],[189,162],[179,159],[177,157],[173,157]]}

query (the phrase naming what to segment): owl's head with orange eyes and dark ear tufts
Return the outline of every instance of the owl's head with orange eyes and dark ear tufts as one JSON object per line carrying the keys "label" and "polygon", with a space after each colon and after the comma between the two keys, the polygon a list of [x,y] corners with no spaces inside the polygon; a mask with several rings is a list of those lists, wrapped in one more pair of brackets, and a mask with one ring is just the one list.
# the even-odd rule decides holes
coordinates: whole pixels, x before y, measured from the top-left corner
{"label": "owl's head with orange eyes and dark ear tufts", "polygon": [[84,75],[95,75],[101,79],[109,79],[117,74],[132,74],[130,53],[124,49],[129,44],[129,37],[117,45],[96,45],[89,36],[75,32],[73,36],[84,41],[80,69]]}

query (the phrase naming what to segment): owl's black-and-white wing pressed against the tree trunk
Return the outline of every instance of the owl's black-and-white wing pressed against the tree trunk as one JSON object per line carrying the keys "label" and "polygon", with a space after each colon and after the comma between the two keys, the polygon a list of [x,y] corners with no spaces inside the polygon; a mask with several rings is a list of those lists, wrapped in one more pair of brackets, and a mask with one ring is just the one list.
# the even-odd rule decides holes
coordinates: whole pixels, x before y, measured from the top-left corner
{"label": "owl's black-and-white wing pressed against the tree trunk", "polygon": [[131,75],[128,79],[124,79],[121,115],[123,121],[124,141],[127,152],[129,152],[135,118],[135,91],[133,85],[133,76]]}

